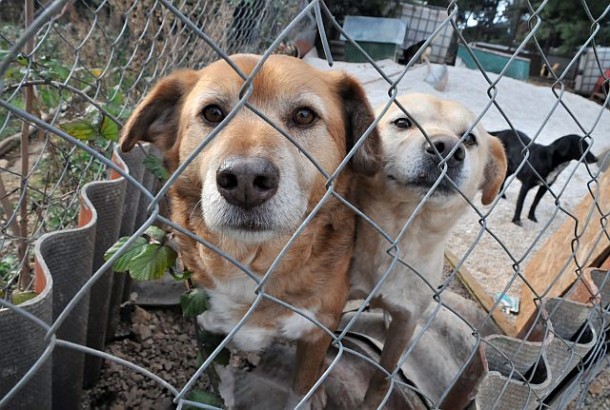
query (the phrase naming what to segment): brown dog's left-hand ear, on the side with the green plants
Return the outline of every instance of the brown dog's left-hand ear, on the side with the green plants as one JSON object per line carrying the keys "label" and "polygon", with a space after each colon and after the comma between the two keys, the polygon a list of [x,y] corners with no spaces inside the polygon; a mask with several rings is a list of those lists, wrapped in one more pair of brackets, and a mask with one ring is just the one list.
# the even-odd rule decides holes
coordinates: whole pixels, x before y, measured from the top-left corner
{"label": "brown dog's left-hand ear, on the side with the green plants", "polygon": [[169,151],[176,142],[182,99],[197,79],[193,70],[176,71],[161,79],[125,123],[121,151],[130,151],[138,141],[152,142],[164,153]]}

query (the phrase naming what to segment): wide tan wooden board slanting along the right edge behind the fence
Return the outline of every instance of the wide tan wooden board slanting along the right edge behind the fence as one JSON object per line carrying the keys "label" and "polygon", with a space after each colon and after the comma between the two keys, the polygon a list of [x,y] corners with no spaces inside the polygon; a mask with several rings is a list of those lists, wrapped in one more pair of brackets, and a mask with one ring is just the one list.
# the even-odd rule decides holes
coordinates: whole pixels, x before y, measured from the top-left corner
{"label": "wide tan wooden board slanting along the right edge behind the fence", "polygon": [[[599,178],[599,192],[595,192],[596,189],[595,185],[591,185],[599,209],[594,205],[591,193],[587,193],[571,212],[578,220],[578,226],[573,218],[568,218],[525,267],[523,276],[536,294],[547,298],[561,295],[577,277],[576,261],[581,266],[589,264],[610,244],[608,237],[602,233],[603,226],[600,222],[602,215],[608,215],[610,212],[610,172]],[[573,256],[572,241],[576,235],[579,241]],[[521,334],[526,329],[536,312],[535,294],[529,286],[524,284],[521,289],[521,308],[515,325],[516,334]]]}

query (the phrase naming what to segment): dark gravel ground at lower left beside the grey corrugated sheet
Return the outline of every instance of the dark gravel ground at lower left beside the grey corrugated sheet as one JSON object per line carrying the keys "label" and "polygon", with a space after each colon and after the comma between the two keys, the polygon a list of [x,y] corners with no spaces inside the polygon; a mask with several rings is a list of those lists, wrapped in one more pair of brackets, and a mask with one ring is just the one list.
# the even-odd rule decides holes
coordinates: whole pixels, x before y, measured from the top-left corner
{"label": "dark gravel ground at lower left beside the grey corrugated sheet", "polygon": [[[197,370],[193,332],[193,322],[182,317],[179,307],[144,309],[128,305],[121,312],[116,340],[106,352],[138,364],[180,389]],[[207,378],[196,385],[197,389],[207,387]],[[174,408],[169,390],[112,361],[104,362],[100,381],[83,396],[81,409]]]}

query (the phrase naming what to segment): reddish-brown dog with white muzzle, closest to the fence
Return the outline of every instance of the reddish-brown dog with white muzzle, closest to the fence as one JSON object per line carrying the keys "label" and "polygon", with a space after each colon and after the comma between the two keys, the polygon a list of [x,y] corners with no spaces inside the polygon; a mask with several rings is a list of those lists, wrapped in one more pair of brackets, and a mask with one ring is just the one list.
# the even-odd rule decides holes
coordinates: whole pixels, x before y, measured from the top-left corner
{"label": "reddish-brown dog with white muzzle, closest to the fence", "polygon": [[[258,56],[236,55],[249,75]],[[172,171],[214,131],[240,99],[242,78],[223,60],[200,71],[162,79],[137,107],[121,138],[129,151],[152,141]],[[331,175],[374,120],[360,85],[351,77],[316,70],[301,60],[271,56],[255,76],[248,101],[290,135],[244,107],[192,159],[171,190],[171,218],[221,249],[261,278],[304,219],[326,194]],[[374,131],[334,180],[334,192],[349,196],[355,173],[381,167]],[[288,248],[263,290],[333,331],[349,292],[355,216],[329,197]],[[210,310],[200,323],[228,333],[257,298],[257,283],[202,243],[178,235],[180,253],[196,282],[207,290]],[[286,407],[309,392],[323,370],[330,337],[303,316],[263,299],[233,342],[258,351],[276,337],[298,340],[297,363]],[[312,404],[324,404],[319,389]]]}

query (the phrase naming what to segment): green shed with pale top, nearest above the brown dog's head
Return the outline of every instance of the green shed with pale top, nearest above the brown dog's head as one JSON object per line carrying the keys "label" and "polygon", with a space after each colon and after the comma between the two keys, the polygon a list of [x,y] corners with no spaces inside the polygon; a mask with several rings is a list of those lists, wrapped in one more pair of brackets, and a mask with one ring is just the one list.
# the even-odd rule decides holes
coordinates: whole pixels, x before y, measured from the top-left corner
{"label": "green shed with pale top, nearest above the brown dog's head", "polygon": [[[343,30],[373,60],[384,58],[396,60],[396,55],[405,38],[407,23],[391,18],[346,16]],[[341,39],[346,40],[343,36]],[[363,63],[367,60],[352,42],[346,41],[345,61]]]}

